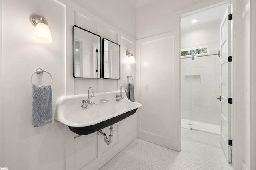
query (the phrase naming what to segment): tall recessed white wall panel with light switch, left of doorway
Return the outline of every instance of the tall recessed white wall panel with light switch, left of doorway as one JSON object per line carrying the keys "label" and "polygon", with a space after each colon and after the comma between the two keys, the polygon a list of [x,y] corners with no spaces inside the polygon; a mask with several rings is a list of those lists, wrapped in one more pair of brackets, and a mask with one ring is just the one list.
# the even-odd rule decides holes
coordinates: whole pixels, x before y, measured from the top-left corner
{"label": "tall recessed white wall panel with light switch, left of doorway", "polygon": [[[174,119],[170,115],[173,102],[168,97],[173,89],[173,72],[169,66],[173,57],[172,41],[173,37],[166,37],[140,44],[140,94],[144,106],[140,113],[140,130],[170,139],[174,138],[174,131],[168,128],[168,124],[174,124]],[[158,50],[154,50],[155,48]],[[170,55],[166,55],[169,50]],[[144,90],[144,84],[148,85],[148,90]],[[152,95],[154,98],[150,97]]]}

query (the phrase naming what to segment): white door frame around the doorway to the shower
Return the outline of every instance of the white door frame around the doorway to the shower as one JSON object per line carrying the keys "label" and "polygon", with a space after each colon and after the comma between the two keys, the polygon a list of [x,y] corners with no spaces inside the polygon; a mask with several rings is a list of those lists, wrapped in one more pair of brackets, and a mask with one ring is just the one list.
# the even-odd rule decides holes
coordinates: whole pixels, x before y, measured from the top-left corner
{"label": "white door frame around the doorway to the shower", "polygon": [[[222,4],[233,4],[234,9],[234,34],[233,34],[233,84],[234,88],[232,89],[233,93],[233,154],[232,154],[232,162],[234,169],[242,169],[242,161],[243,161],[243,131],[241,129],[244,129],[243,125],[243,117],[242,114],[244,111],[244,104],[243,104],[243,50],[241,50],[241,47],[243,47],[242,40],[243,35],[241,34],[241,31],[243,30],[243,21],[240,15],[242,14],[242,6],[243,2],[240,0],[207,0],[205,2],[202,2],[200,4],[196,4],[194,6],[190,6],[188,8],[179,10],[175,12],[174,15],[174,89],[175,94],[174,98],[178,100],[174,100],[175,106],[180,106],[180,58],[177,56],[180,56],[180,18],[182,16],[189,15],[194,12],[199,12],[202,10],[206,10],[209,8],[212,8],[214,6],[219,6]],[[236,17],[237,14],[237,17]],[[240,47],[240,48],[238,48]],[[239,56],[239,57],[236,57]],[[240,82],[239,82],[240,80]],[[236,98],[237,96],[237,98]],[[180,107],[175,108],[175,112],[179,113],[181,116]],[[180,146],[181,146],[181,140],[180,140]],[[239,146],[239,147],[236,147]]]}

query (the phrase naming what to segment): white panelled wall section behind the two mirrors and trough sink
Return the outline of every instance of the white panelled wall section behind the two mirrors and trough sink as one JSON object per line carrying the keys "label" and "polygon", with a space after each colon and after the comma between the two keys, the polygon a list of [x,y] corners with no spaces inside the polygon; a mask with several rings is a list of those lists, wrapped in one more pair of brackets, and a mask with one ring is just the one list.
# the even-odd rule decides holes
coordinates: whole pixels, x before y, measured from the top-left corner
{"label": "white panelled wall section behind the two mirrors and trough sink", "polygon": [[[121,85],[126,85],[126,75],[134,75],[133,64],[127,64],[125,51],[134,51],[134,39],[122,33],[120,30],[105,23],[100,18],[94,16],[83,8],[77,8],[76,4],[69,6],[71,15],[74,15],[74,20],[70,19],[70,25],[74,24],[83,29],[91,31],[101,36],[101,38],[107,38],[115,43],[120,44],[120,62],[121,62],[121,79],[109,80],[109,79],[90,79],[90,78],[72,78],[67,76],[68,81],[73,81],[74,91],[73,94],[86,94],[88,87],[93,87],[94,92],[108,92],[118,90]],[[73,13],[73,14],[72,14]],[[66,14],[68,17],[68,13]],[[72,23],[74,22],[74,23]],[[72,23],[72,24],[71,24]],[[125,38],[124,38],[125,37]],[[72,40],[68,40],[72,41]],[[68,63],[67,63],[68,68]],[[70,70],[72,72],[72,70]],[[72,86],[70,86],[72,88]],[[67,89],[72,92],[72,89]],[[136,138],[136,125],[135,116],[132,115],[127,119],[124,119],[114,124],[113,129],[113,141],[110,145],[104,142],[102,136],[98,136],[96,132],[90,135],[72,135],[72,132],[68,128],[66,133],[66,148],[68,150],[66,154],[66,169],[72,167],[74,170],[90,170],[99,169],[120,150],[122,150],[128,143]],[[109,127],[102,129],[107,135],[109,133]],[[74,138],[75,137],[75,138]],[[73,145],[71,148],[68,148]],[[89,154],[88,154],[89,153]]]}

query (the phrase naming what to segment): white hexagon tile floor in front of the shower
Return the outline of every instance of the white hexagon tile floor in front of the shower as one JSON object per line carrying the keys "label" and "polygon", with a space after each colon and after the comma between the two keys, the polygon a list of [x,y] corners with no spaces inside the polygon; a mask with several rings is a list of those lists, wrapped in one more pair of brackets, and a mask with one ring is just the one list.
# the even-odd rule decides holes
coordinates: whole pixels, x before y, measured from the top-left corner
{"label": "white hexagon tile floor in front of the shower", "polygon": [[220,136],[181,130],[182,151],[135,139],[100,170],[233,170],[220,146]]}

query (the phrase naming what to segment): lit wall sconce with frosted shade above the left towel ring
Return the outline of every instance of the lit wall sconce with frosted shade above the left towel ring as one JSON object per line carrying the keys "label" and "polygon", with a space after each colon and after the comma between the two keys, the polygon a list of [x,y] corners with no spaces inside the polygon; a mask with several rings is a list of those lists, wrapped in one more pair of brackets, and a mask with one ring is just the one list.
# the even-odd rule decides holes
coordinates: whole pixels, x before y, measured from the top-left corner
{"label": "lit wall sconce with frosted shade above the left towel ring", "polygon": [[52,35],[45,18],[34,14],[30,16],[30,21],[35,26],[33,31],[33,39],[42,43],[51,43]]}

